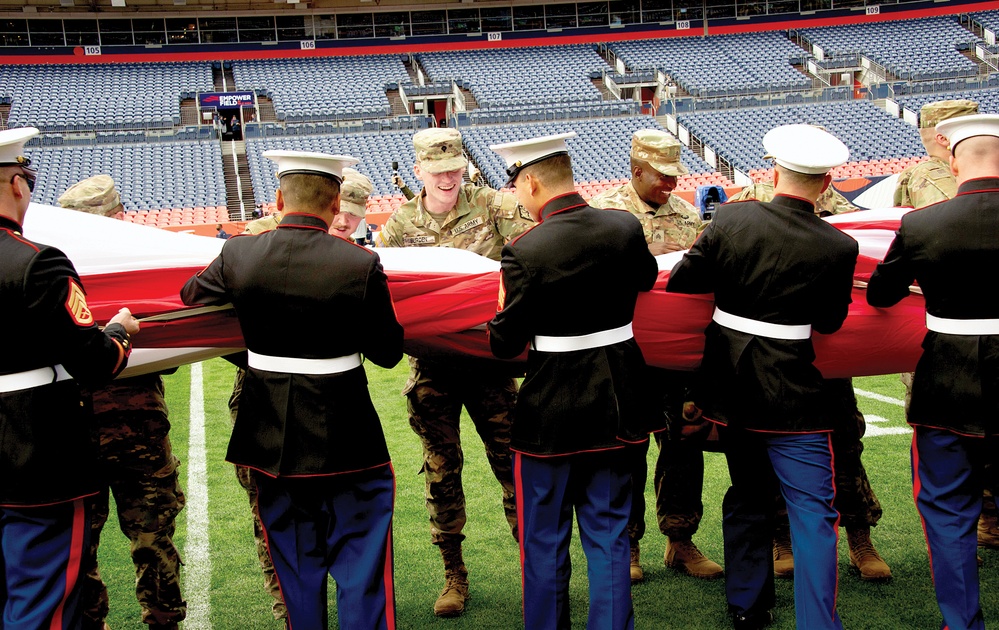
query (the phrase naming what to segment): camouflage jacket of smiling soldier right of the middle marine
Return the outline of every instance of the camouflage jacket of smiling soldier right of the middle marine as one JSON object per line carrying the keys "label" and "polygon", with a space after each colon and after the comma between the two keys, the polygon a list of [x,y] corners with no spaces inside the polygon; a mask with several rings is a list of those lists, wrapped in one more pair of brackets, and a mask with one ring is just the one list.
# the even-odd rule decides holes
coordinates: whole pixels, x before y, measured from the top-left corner
{"label": "camouflage jacket of smiling soldier right of the middle marine", "polygon": [[605,190],[590,199],[589,203],[594,208],[627,210],[638,217],[642,222],[646,243],[672,241],[686,249],[694,244],[697,235],[704,228],[693,205],[676,195],[670,195],[667,203],[653,208],[639,196],[631,182]]}

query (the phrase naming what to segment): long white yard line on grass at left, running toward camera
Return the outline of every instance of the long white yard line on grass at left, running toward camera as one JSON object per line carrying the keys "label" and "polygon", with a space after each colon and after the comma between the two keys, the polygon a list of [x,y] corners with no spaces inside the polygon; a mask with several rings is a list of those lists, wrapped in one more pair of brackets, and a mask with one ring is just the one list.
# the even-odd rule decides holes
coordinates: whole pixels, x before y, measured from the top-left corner
{"label": "long white yard line on grass at left, running toward camera", "polygon": [[200,363],[191,364],[191,433],[187,451],[187,546],[184,596],[187,630],[211,630],[212,556],[208,539],[208,469],[205,454],[205,391]]}

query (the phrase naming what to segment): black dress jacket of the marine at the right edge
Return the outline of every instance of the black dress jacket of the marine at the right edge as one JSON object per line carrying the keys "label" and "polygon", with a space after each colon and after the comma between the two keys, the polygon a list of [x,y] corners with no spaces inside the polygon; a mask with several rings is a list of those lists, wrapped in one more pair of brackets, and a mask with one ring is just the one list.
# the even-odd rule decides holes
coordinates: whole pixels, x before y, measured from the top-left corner
{"label": "black dress jacket of the marine at the right edge", "polygon": [[[902,217],[871,276],[867,302],[891,306],[913,281],[926,312],[999,319],[999,178],[975,179],[957,196]],[[909,422],[964,435],[999,434],[999,335],[927,331],[912,383]]]}

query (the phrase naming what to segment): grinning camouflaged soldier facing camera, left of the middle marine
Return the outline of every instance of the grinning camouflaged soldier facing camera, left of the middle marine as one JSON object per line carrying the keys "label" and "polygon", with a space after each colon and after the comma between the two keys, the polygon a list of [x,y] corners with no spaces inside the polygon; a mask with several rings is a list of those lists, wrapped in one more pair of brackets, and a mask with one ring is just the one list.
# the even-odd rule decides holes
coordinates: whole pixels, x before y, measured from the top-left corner
{"label": "grinning camouflaged soldier facing camera, left of the middle marine", "polygon": [[[456,130],[423,130],[413,136],[413,147],[414,172],[423,181],[423,190],[389,217],[380,232],[379,245],[457,247],[499,260],[503,245],[534,225],[513,195],[462,184],[468,160]],[[503,509],[516,537],[510,424],[517,386],[508,370],[492,362],[421,356],[410,357],[409,364],[403,394],[410,425],[423,445],[431,542],[440,547],[444,560],[445,586],[434,603],[434,614],[456,616],[464,612],[468,599],[468,571],[461,554],[465,538],[461,408],[468,410],[485,444],[486,457],[502,487]]]}

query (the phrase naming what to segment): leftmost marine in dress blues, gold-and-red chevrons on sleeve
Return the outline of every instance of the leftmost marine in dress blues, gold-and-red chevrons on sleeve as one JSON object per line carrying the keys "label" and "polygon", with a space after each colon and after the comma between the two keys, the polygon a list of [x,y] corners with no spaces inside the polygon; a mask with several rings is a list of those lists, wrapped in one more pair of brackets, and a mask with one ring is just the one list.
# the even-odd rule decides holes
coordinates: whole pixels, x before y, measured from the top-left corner
{"label": "leftmost marine in dress blues, gold-and-red chevrons on sleeve", "polygon": [[97,493],[97,444],[80,386],[125,368],[139,325],[122,309],[102,332],[73,263],[21,225],[35,171],[33,127],[0,131],[0,627],[75,628]]}

